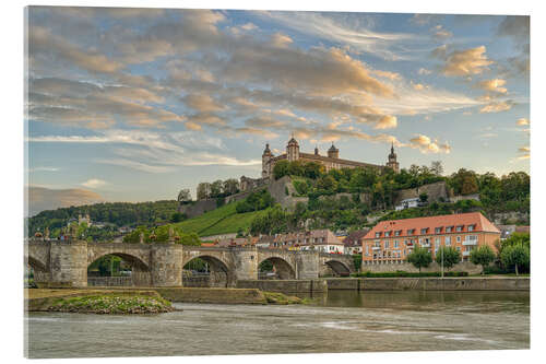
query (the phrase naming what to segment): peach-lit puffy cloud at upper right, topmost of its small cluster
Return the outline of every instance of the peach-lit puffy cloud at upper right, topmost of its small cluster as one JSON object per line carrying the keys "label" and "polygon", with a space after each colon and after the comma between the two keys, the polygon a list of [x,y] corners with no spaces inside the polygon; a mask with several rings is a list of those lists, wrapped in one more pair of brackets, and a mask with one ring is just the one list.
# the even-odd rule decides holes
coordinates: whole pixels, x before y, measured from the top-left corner
{"label": "peach-lit puffy cloud at upper right, topmost of its small cluster", "polygon": [[[450,54],[446,54],[446,64],[442,68],[442,73],[451,77],[480,74],[488,69],[487,66],[494,63],[494,61],[487,58],[485,52],[486,47],[479,46],[476,48],[454,50]],[[437,54],[442,55],[441,50]]]}

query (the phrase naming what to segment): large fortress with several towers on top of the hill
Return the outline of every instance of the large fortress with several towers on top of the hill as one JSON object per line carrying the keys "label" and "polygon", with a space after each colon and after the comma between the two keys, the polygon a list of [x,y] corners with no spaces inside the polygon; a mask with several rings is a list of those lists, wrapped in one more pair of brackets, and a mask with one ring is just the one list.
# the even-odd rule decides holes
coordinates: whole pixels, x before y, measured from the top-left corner
{"label": "large fortress with several towers on top of the hill", "polygon": [[[281,155],[273,155],[270,150],[270,144],[265,144],[265,150],[262,154],[262,178],[271,177],[275,164],[280,161],[286,160],[288,162],[302,161],[306,163],[317,162],[324,166],[325,171],[341,169],[341,168],[355,168],[355,167],[372,167],[383,169],[385,166],[391,167],[395,173],[399,173],[400,165],[396,162],[396,153],[394,153],[394,144],[391,146],[391,153],[388,156],[387,164],[377,165],[364,162],[348,161],[340,158],[340,150],[335,148],[334,143],[328,150],[328,155],[321,155],[319,149],[314,148],[314,153],[304,153],[299,151],[299,144],[294,137],[286,145],[286,153]],[[245,190],[245,188],[242,188]]]}

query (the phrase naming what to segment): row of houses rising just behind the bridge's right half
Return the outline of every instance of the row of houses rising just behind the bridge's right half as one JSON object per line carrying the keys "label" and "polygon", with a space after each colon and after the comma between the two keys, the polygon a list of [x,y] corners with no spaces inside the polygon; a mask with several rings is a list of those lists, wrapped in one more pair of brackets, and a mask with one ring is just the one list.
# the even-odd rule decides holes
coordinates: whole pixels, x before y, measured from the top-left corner
{"label": "row of houses rising just behind the bridge's right half", "polygon": [[261,236],[256,246],[271,249],[319,250],[322,253],[344,254],[343,242],[327,228]]}

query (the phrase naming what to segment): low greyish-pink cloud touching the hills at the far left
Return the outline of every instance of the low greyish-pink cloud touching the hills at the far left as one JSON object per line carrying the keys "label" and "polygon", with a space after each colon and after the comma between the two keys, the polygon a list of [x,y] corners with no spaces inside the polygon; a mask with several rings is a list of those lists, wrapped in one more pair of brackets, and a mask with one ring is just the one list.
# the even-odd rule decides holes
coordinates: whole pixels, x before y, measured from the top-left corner
{"label": "low greyish-pink cloud touching the hills at the far left", "polygon": [[104,202],[104,198],[85,189],[50,189],[28,186],[28,216],[44,210]]}

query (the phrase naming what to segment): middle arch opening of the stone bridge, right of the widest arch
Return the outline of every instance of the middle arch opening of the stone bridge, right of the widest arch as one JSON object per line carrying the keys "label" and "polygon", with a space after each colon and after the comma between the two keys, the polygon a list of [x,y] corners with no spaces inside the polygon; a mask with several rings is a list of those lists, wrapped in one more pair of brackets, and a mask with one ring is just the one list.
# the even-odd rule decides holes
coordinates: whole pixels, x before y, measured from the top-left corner
{"label": "middle arch opening of the stone bridge, right of the widest arch", "polygon": [[[191,270],[191,263],[195,259],[201,259],[207,265],[207,280],[203,282],[203,279],[195,279],[188,271]],[[206,277],[206,275],[205,275]],[[228,265],[221,258],[215,257],[213,254],[199,254],[191,256],[183,262],[182,268],[182,285],[183,286],[216,286],[216,287],[227,287],[235,284],[235,277],[233,271],[229,269]]]}

